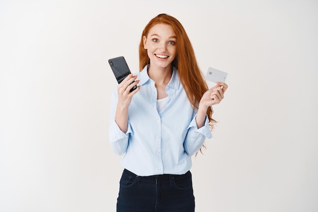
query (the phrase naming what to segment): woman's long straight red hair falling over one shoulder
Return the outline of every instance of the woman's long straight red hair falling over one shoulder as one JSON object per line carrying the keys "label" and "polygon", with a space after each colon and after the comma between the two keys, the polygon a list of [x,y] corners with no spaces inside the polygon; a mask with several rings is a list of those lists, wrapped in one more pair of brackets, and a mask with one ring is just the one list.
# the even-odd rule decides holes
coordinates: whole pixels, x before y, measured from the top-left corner
{"label": "woman's long straight red hair falling over one shoulder", "polygon": [[[168,24],[174,30],[177,36],[176,48],[177,54],[172,65],[178,69],[180,82],[185,90],[186,96],[194,108],[199,107],[199,101],[202,95],[208,90],[208,85],[199,68],[194,49],[183,28],[182,24],[174,17],[167,14],[159,14],[149,21],[145,26],[139,45],[139,70],[150,63],[147,50],[143,46],[143,36],[147,37],[149,30],[156,24]],[[213,123],[216,121],[212,118],[213,110],[209,107],[207,110],[210,129],[213,129]],[[200,150],[201,151],[201,150]]]}

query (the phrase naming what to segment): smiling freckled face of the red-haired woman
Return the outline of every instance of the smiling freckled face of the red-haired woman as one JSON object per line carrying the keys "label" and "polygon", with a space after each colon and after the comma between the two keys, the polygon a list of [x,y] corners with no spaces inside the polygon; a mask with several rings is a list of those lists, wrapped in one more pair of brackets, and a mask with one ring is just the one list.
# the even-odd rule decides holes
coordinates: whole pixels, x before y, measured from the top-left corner
{"label": "smiling freckled face of the red-haired woman", "polygon": [[156,24],[150,28],[147,37],[143,37],[144,48],[151,66],[170,67],[176,57],[177,37],[172,27],[167,24]]}

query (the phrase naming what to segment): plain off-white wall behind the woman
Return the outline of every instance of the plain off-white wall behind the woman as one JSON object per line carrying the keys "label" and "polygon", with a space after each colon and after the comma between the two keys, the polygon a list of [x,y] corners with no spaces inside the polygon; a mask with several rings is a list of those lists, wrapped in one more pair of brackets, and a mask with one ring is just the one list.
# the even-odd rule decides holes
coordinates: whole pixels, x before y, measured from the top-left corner
{"label": "plain off-white wall behind the woman", "polygon": [[185,27],[202,71],[229,73],[196,211],[318,211],[318,2],[0,1],[0,211],[115,211],[108,58],[138,72],[159,13]]}

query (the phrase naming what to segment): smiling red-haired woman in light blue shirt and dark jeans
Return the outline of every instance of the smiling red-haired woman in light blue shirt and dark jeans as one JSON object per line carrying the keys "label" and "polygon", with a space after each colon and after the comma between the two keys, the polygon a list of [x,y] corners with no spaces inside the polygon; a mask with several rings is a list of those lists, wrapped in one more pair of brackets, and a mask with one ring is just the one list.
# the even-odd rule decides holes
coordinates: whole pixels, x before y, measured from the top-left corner
{"label": "smiling red-haired woman in light blue shirt and dark jeans", "polygon": [[228,86],[208,89],[183,26],[167,14],[143,30],[139,62],[111,103],[111,147],[124,154],[117,211],[194,211],[191,156],[211,138],[211,105]]}

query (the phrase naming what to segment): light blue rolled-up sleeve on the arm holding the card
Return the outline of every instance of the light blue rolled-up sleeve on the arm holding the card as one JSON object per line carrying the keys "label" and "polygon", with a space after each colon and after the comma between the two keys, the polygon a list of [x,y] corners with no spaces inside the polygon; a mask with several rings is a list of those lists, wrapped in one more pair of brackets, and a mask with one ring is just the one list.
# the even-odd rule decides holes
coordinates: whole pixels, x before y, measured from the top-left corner
{"label": "light blue rolled-up sleeve on the arm holding the card", "polygon": [[187,129],[188,129],[188,132],[183,143],[184,150],[186,151],[188,155],[194,155],[200,150],[200,148],[204,144],[205,139],[212,137],[212,134],[209,128],[208,116],[206,115],[205,117],[204,126],[199,129],[198,129],[196,116],[195,116],[190,122]]}

